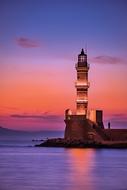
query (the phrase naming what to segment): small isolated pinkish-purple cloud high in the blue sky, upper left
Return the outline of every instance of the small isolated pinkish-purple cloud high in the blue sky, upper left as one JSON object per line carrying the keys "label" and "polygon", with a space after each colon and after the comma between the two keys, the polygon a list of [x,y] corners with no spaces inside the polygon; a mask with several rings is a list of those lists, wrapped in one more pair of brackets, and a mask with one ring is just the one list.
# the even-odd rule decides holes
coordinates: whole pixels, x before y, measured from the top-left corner
{"label": "small isolated pinkish-purple cloud high in the blue sky, upper left", "polygon": [[23,48],[36,48],[40,46],[38,42],[25,37],[17,38],[16,43]]}

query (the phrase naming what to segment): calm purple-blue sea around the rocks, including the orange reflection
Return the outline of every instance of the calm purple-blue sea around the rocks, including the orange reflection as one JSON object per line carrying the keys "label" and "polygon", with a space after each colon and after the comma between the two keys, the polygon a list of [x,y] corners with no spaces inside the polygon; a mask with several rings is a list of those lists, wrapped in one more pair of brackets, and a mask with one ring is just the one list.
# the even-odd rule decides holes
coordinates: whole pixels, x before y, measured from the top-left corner
{"label": "calm purple-blue sea around the rocks, including the orange reflection", "polygon": [[0,136],[0,190],[127,190],[127,150],[44,148],[32,141],[51,137]]}

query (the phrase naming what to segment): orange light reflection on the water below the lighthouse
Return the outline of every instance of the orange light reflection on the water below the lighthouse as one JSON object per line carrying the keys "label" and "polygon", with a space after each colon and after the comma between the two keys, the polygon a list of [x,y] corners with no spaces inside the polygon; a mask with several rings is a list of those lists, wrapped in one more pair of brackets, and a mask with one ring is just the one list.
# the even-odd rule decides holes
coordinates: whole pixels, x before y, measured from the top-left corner
{"label": "orange light reflection on the water below the lighthouse", "polygon": [[69,153],[69,190],[92,190],[92,163],[94,162],[94,149],[70,149]]}

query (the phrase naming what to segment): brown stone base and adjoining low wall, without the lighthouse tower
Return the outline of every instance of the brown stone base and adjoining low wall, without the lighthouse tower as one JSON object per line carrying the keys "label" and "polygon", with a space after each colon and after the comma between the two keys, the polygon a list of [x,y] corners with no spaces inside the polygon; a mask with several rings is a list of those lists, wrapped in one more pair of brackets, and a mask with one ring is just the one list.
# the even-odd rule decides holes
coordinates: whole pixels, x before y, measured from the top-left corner
{"label": "brown stone base and adjoining low wall, without the lighthouse tower", "polygon": [[127,141],[127,129],[104,129],[84,115],[66,115],[65,140]]}

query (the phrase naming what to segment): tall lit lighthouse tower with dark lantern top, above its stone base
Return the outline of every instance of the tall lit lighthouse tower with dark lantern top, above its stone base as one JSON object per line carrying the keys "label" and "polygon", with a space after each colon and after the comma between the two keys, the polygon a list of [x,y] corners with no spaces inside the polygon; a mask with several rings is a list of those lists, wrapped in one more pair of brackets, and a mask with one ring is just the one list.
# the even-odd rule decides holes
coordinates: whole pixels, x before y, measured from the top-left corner
{"label": "tall lit lighthouse tower with dark lantern top, above its stone base", "polygon": [[83,49],[78,55],[78,63],[75,67],[77,70],[77,81],[75,83],[77,91],[76,115],[84,115],[86,117],[88,109],[89,65],[87,63],[87,54],[84,53]]}

